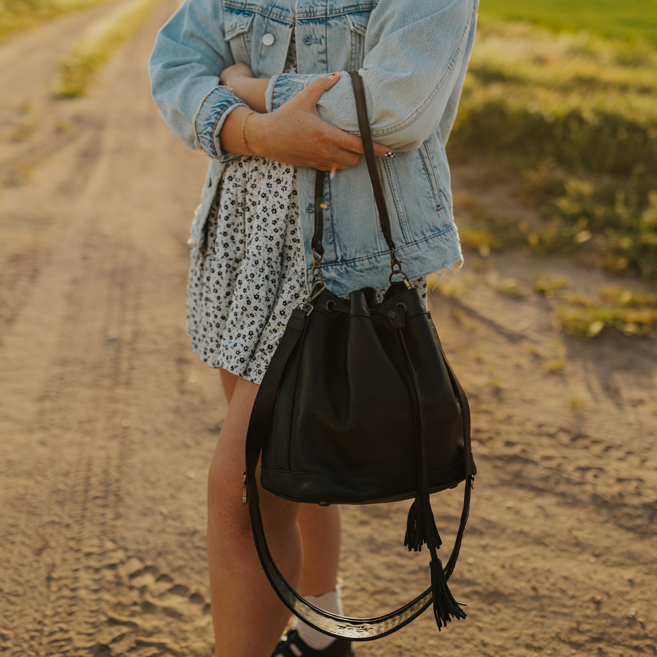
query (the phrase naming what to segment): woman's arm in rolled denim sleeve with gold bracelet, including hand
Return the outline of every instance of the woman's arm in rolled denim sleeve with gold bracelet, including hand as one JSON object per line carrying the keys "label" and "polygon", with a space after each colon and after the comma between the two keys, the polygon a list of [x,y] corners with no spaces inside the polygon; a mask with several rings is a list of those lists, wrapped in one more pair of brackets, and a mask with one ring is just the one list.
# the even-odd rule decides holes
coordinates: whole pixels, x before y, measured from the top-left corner
{"label": "woman's arm in rolled denim sleeve with gold bracelet, including hand", "polygon": [[[318,99],[339,77],[321,76],[275,112],[252,114],[244,125],[248,148],[244,145],[248,104],[217,76],[234,65],[222,25],[220,2],[186,0],[156,38],[149,62],[152,95],[171,130],[189,147],[202,148],[220,162],[253,153],[325,171],[356,164],[363,152],[359,137],[317,113]],[[263,90],[265,82],[251,77],[248,84]],[[256,108],[265,110],[254,101]],[[390,149],[377,145],[376,150],[383,155]]]}

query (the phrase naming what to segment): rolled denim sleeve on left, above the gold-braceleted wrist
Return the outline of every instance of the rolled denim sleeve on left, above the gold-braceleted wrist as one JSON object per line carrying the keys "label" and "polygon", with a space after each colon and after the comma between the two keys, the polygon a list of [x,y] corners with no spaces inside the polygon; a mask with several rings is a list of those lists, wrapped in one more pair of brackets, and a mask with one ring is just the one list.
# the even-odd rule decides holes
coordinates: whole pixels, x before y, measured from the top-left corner
{"label": "rolled denim sleeve on left, above the gold-braceleted wrist", "polygon": [[240,101],[219,85],[219,73],[235,62],[223,37],[223,12],[215,0],[187,0],[158,32],[148,71],[160,117],[190,148],[219,162],[219,132]]}

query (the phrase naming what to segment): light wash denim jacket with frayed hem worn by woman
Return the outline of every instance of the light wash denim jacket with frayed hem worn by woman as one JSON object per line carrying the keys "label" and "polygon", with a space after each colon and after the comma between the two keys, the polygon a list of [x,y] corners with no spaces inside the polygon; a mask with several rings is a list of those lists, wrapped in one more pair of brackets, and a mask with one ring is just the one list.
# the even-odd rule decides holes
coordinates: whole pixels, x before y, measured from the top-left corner
{"label": "light wash denim jacket with frayed hem worn by woman", "polygon": [[[397,257],[409,277],[461,260],[445,142],[456,114],[476,26],[478,0],[186,0],[160,30],[150,58],[160,116],[191,148],[210,157],[192,225],[192,258],[227,162],[219,131],[244,104],[219,85],[221,70],[244,62],[271,78],[269,112],[314,79],[340,71],[320,99],[322,118],[359,134],[350,70],[359,70],[376,141],[396,158],[377,158]],[[282,74],[296,30],[298,74]],[[307,280],[313,261],[315,170],[298,169]],[[347,294],[388,283],[390,254],[378,226],[365,158],[327,183],[323,271]]]}

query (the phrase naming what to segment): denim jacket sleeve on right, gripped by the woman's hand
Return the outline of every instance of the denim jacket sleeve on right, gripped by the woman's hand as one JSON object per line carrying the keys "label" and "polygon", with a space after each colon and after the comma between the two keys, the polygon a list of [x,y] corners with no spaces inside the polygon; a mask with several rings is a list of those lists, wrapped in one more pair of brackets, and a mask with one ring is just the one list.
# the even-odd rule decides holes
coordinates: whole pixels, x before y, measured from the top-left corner
{"label": "denim jacket sleeve on right, gripped by the woman's hand", "polygon": [[[476,29],[478,0],[380,0],[365,33],[359,70],[376,141],[415,150],[440,128],[449,135]],[[272,78],[265,99],[273,111],[321,75]],[[351,79],[340,81],[317,103],[320,116],[358,134]]]}

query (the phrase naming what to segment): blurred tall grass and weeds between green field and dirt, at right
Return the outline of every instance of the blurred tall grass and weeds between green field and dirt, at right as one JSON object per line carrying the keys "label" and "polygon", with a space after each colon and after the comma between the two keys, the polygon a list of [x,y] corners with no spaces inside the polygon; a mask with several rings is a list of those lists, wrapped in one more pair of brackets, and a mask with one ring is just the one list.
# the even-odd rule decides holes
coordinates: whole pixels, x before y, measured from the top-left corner
{"label": "blurred tall grass and weeds between green field and dirt, at right", "polygon": [[657,277],[652,46],[482,24],[449,152],[505,165],[546,220],[541,227],[509,226],[479,216],[472,234],[465,231],[466,246],[472,240],[480,252],[510,243],[541,254],[585,249],[611,271]]}

